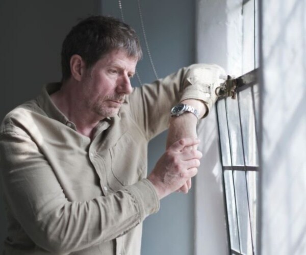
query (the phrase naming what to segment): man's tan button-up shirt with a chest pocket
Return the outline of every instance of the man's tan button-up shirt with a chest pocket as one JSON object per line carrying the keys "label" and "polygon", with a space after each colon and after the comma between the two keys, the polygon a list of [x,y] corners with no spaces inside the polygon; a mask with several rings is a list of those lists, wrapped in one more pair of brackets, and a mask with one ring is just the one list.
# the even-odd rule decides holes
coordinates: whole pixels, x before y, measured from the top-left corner
{"label": "man's tan button-up shirt with a chest pocket", "polygon": [[180,99],[206,96],[187,81],[187,70],[135,88],[92,140],[50,99],[60,84],[48,84],[5,117],[5,254],[140,254],[142,221],[159,210],[145,179],[148,141],[167,128]]}

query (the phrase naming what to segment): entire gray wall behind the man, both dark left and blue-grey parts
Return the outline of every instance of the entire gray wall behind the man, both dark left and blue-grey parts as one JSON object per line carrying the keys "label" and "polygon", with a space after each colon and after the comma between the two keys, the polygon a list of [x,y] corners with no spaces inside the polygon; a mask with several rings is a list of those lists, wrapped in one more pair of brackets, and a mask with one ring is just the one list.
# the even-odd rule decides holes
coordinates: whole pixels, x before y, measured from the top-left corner
{"label": "entire gray wall behind the man, both dark left and blue-grey parts", "polygon": [[[0,118],[13,107],[35,97],[42,84],[60,80],[60,49],[64,36],[80,17],[103,14],[119,17],[117,1],[0,2],[2,93]],[[140,27],[136,0],[122,1],[125,21],[138,32],[144,59],[137,69],[142,82],[154,80]],[[159,77],[194,62],[194,1],[142,1],[143,18],[152,58]],[[138,86],[136,80],[134,86]],[[148,169],[165,149],[166,133],[149,144]],[[142,254],[193,254],[193,189],[161,201],[161,210],[144,222]],[[5,237],[0,203],[0,250]]]}

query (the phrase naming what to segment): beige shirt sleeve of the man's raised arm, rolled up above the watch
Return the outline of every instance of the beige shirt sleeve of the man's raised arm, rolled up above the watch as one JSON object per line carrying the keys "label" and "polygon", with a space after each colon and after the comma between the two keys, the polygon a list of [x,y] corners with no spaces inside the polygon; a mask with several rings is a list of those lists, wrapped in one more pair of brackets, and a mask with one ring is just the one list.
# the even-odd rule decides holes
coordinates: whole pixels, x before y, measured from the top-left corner
{"label": "beige shirt sleeve of the man's raised arm, rolled up above the watch", "polygon": [[134,88],[129,96],[132,118],[149,140],[167,129],[170,110],[180,101],[202,100],[209,111],[213,104],[210,83],[218,80],[223,71],[217,65],[194,64],[181,68],[164,79]]}

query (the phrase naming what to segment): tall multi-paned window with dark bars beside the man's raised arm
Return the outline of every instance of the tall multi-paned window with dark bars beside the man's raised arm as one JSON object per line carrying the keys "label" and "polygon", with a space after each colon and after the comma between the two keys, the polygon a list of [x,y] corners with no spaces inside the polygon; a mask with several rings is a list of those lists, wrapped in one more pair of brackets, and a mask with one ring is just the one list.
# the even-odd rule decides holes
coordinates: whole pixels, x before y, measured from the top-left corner
{"label": "tall multi-paned window with dark bars beside the man's raised arm", "polygon": [[242,4],[242,77],[236,99],[217,103],[223,185],[231,254],[257,254],[257,190],[259,179],[257,83],[257,1]]}

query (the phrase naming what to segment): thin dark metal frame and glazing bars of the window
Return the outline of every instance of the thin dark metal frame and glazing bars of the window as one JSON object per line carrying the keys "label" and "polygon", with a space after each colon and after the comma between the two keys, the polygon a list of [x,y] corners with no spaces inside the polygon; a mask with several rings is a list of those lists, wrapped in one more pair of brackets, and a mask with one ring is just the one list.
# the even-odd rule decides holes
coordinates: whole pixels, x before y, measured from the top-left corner
{"label": "thin dark metal frame and glazing bars of the window", "polygon": [[[243,10],[244,10],[244,7],[246,4],[248,4],[249,2],[252,2],[253,3],[253,67],[254,69],[251,70],[250,72],[248,73],[244,73],[241,77],[237,78],[236,80],[237,81],[243,81],[243,82],[238,82],[237,83],[237,87],[236,87],[236,96],[237,96],[237,105],[238,105],[238,116],[239,116],[239,129],[240,129],[240,136],[241,136],[241,145],[242,145],[242,157],[243,157],[243,165],[234,165],[233,164],[233,159],[232,159],[232,156],[233,156],[233,153],[232,153],[232,141],[231,141],[231,135],[230,135],[230,124],[229,124],[229,121],[228,121],[228,106],[227,106],[227,101],[228,100],[233,100],[231,98],[223,98],[223,99],[219,99],[217,101],[217,104],[216,104],[216,116],[217,116],[217,126],[218,126],[218,135],[219,135],[219,152],[220,152],[220,162],[221,162],[221,165],[222,165],[222,183],[223,183],[223,196],[224,196],[224,209],[225,209],[225,214],[226,214],[226,231],[227,231],[227,241],[228,241],[228,250],[229,250],[229,253],[230,254],[238,254],[238,255],[242,255],[242,254],[257,254],[257,249],[256,249],[256,245],[257,245],[257,233],[258,233],[258,227],[257,227],[257,219],[258,219],[258,213],[256,212],[256,222],[254,223],[253,222],[253,226],[252,226],[252,222],[251,222],[251,213],[250,213],[250,201],[249,201],[249,191],[248,191],[248,180],[247,180],[247,172],[249,171],[255,171],[257,172],[257,181],[255,182],[255,185],[256,185],[256,190],[258,190],[258,187],[259,187],[259,183],[258,183],[258,179],[259,179],[259,172],[260,172],[260,166],[259,166],[259,161],[258,162],[258,165],[247,165],[246,164],[246,159],[245,159],[245,148],[244,148],[244,140],[243,140],[243,134],[242,134],[242,130],[243,130],[243,127],[242,127],[242,120],[241,120],[241,105],[240,105],[240,92],[242,91],[245,91],[246,89],[250,89],[251,90],[251,100],[252,100],[252,113],[253,113],[253,121],[254,121],[254,131],[255,131],[255,139],[256,139],[256,150],[257,150],[257,155],[259,157],[259,139],[258,139],[258,136],[259,136],[259,123],[258,123],[258,112],[259,112],[259,107],[257,107],[256,109],[256,98],[254,96],[254,86],[259,86],[259,83],[258,83],[258,67],[257,66],[257,63],[258,63],[258,36],[257,36],[257,33],[258,33],[258,21],[257,21],[257,13],[256,13],[256,8],[258,6],[258,0],[243,0],[242,2],[242,17],[243,17]],[[250,3],[249,3],[250,4]],[[244,18],[244,17],[243,17]],[[243,23],[244,24],[244,23]],[[242,29],[243,33],[245,32],[244,31],[244,28]],[[243,42],[242,42],[243,44]],[[244,45],[243,45],[244,46]],[[243,57],[244,57],[244,52],[243,52]],[[244,70],[243,70],[244,71]],[[250,74],[249,77],[248,77],[248,74]],[[218,105],[219,104],[222,104],[224,103],[225,105],[225,115],[226,115],[226,131],[227,132],[227,138],[228,138],[228,145],[229,145],[229,148],[230,148],[230,155],[231,155],[231,165],[224,165],[223,163],[223,157],[222,157],[222,141],[221,141],[221,131],[220,131],[220,114],[218,112]],[[257,102],[258,103],[258,102]],[[223,130],[224,132],[224,130]],[[223,145],[224,147],[224,145]],[[229,223],[229,217],[230,215],[228,214],[228,199],[229,198],[226,198],[226,184],[225,184],[225,171],[231,171],[230,174],[232,174],[232,182],[233,182],[233,187],[234,187],[234,201],[231,201],[231,202],[234,202],[235,203],[235,214],[236,214],[236,224],[237,224],[237,234],[238,234],[238,242],[239,242],[239,250],[235,249],[234,247],[232,247],[232,241],[231,241],[231,230],[230,230],[230,223]],[[245,173],[245,187],[246,187],[246,198],[247,198],[247,213],[248,213],[248,216],[247,216],[247,224],[249,224],[249,227],[250,227],[250,242],[251,242],[251,252],[249,252],[249,250],[247,250],[246,253],[244,253],[242,251],[242,244],[240,243],[241,242],[241,237],[240,237],[240,226],[239,226],[239,217],[238,217],[238,209],[237,209],[237,205],[238,205],[238,202],[237,202],[237,194],[236,194],[236,187],[235,187],[235,180],[234,180],[234,171],[244,171]],[[244,194],[245,195],[245,194]],[[256,203],[256,211],[258,211],[258,200],[257,200],[257,203]],[[252,227],[254,229],[252,229]]]}

